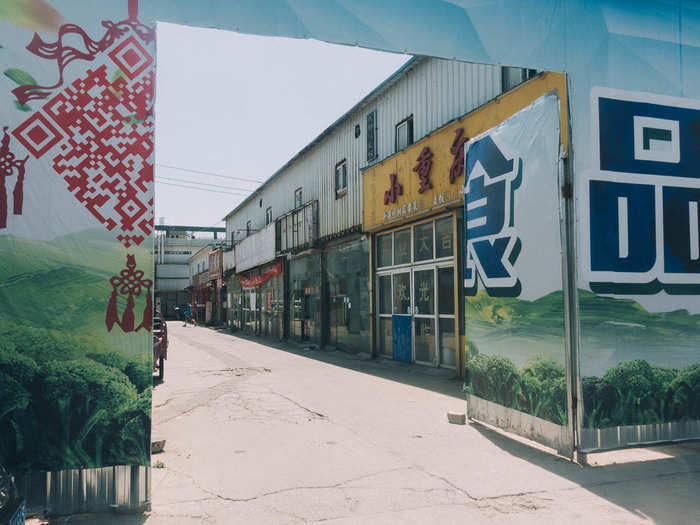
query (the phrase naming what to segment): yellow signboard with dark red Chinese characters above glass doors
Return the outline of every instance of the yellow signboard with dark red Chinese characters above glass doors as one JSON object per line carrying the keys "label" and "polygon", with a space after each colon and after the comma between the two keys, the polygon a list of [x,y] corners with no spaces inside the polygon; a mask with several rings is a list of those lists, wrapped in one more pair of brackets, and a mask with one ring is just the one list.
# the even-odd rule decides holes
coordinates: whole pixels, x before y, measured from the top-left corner
{"label": "yellow signboard with dark red Chinese characters above glass doors", "polygon": [[367,168],[362,174],[365,231],[462,205],[464,142],[550,91],[559,95],[561,142],[566,148],[566,76],[543,73]]}

